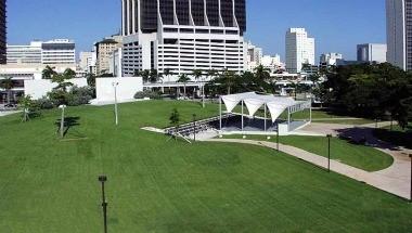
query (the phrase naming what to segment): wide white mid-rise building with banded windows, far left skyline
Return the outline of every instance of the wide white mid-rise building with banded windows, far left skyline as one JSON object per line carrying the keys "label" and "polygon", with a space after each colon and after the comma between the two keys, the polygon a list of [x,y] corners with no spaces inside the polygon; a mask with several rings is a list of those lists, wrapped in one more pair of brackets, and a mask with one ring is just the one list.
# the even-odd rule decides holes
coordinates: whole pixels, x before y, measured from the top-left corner
{"label": "wide white mid-rise building with banded windows, far left skyline", "polygon": [[67,39],[31,41],[29,46],[8,44],[8,64],[76,64],[75,47],[75,42]]}

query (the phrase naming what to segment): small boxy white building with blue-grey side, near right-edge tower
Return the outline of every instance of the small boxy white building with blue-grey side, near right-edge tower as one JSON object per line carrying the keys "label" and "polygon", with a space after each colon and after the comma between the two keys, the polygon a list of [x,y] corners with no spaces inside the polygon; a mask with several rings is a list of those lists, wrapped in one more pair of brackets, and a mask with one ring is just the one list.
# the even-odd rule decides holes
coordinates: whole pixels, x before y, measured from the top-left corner
{"label": "small boxy white building with blue-grey side, near right-edge tower", "polygon": [[357,47],[358,62],[385,63],[386,52],[387,52],[387,47],[386,44],[383,44],[383,43],[358,44]]}

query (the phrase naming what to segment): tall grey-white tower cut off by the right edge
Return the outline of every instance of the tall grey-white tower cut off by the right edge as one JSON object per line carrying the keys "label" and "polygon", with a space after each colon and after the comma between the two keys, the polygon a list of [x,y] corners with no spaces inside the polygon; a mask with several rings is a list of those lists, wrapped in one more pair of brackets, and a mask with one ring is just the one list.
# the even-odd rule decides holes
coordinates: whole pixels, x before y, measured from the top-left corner
{"label": "tall grey-white tower cut off by the right edge", "polygon": [[386,0],[387,61],[412,69],[412,1]]}

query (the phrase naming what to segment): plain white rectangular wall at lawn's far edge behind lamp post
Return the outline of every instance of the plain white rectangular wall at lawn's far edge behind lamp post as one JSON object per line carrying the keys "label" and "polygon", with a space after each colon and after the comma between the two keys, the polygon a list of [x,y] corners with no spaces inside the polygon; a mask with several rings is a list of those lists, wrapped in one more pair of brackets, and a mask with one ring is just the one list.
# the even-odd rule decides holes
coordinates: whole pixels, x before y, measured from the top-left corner
{"label": "plain white rectangular wall at lawn's far edge behind lamp post", "polygon": [[137,92],[143,91],[143,79],[141,77],[96,78],[95,92],[98,102],[114,101],[115,89],[113,82],[118,82],[118,101],[133,100]]}

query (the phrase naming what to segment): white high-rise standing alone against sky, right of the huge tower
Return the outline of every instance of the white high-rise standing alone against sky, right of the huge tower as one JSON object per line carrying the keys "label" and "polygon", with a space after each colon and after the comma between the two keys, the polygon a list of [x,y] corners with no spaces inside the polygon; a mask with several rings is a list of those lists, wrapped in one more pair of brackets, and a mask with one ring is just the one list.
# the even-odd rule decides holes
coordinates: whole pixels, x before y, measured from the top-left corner
{"label": "white high-rise standing alone against sky, right of the huge tower", "polygon": [[286,69],[300,73],[302,64],[314,65],[314,38],[305,28],[289,28],[286,33]]}

